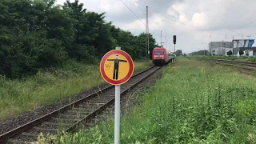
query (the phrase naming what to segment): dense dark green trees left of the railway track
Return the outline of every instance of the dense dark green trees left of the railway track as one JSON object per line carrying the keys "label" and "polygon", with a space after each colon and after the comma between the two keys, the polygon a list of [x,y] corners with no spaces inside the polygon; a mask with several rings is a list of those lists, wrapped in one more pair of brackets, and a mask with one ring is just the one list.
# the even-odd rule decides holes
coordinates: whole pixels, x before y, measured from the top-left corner
{"label": "dense dark green trees left of the railway track", "polygon": [[[1,0],[0,74],[22,78],[69,59],[91,64],[115,46],[132,58],[145,56],[144,33],[131,34],[83,7],[78,0]],[[150,34],[150,51],[155,46]]]}

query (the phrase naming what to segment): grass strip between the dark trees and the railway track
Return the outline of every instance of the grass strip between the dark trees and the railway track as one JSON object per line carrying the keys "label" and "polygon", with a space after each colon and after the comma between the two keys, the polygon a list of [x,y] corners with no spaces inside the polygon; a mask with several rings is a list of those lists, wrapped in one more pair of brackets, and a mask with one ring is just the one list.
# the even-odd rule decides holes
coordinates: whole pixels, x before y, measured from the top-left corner
{"label": "grass strip between the dark trees and the railway track", "polygon": [[[134,66],[134,71],[141,70],[150,66],[150,61],[134,62]],[[0,76],[0,120],[78,94],[102,82],[98,65],[88,66],[74,61],[22,80]]]}

